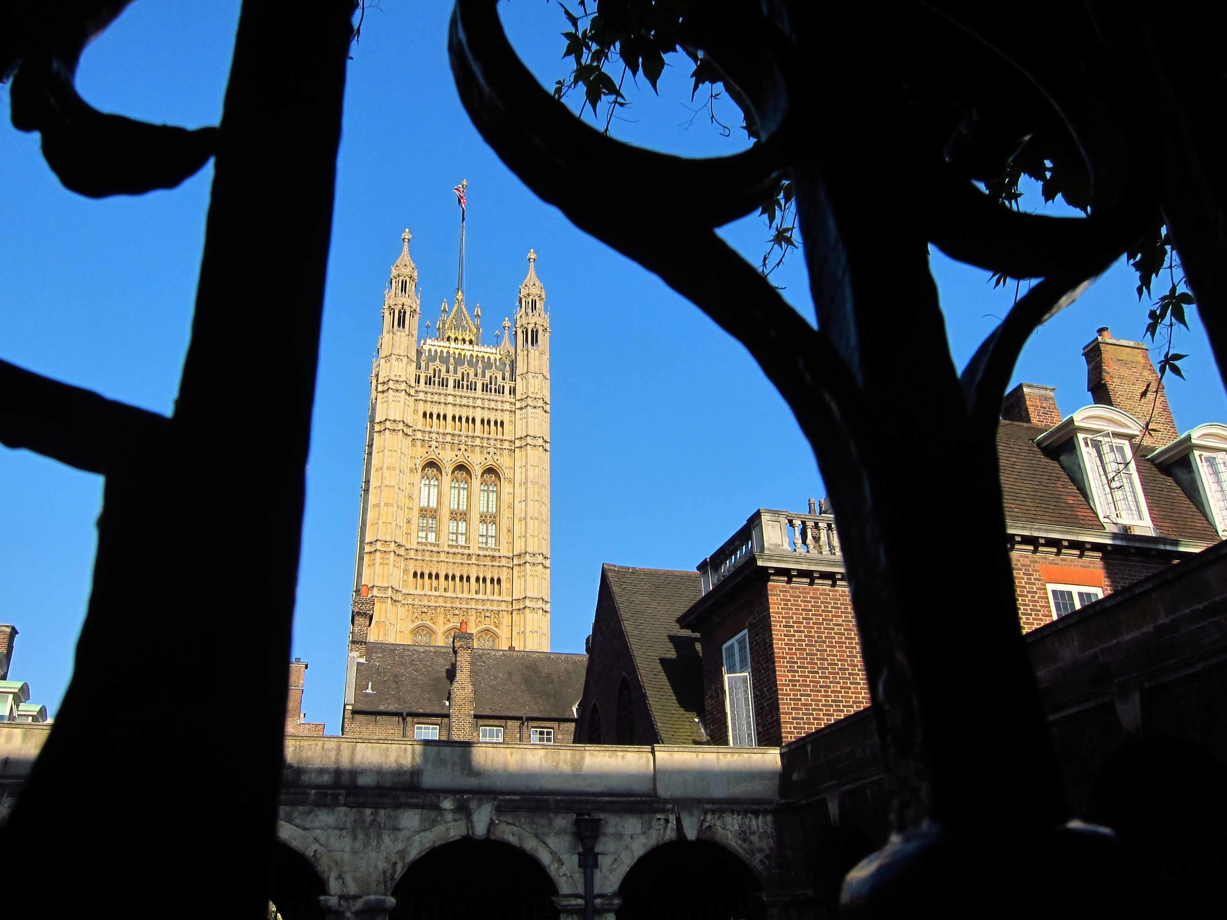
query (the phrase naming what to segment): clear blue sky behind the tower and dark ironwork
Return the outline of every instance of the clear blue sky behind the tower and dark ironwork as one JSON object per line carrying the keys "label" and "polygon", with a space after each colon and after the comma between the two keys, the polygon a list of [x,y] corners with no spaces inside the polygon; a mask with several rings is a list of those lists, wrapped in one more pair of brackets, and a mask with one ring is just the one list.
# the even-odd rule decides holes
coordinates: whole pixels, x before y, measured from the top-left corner
{"label": "clear blue sky behind the tower and dark ironwork", "polygon": [[[542,82],[563,76],[557,4],[517,0],[501,10]],[[454,287],[452,186],[463,178],[470,183],[466,299],[482,305],[487,329],[510,315],[531,247],[551,310],[555,650],[583,649],[602,562],[693,568],[755,508],[802,509],[807,498],[825,494],[791,415],[741,346],[659,278],[541,204],[481,141],[452,82],[448,15],[443,2],[383,0],[367,12],[348,72],[294,621],[294,654],[310,662],[304,709],[329,732],[340,725],[383,285],[409,227],[423,313],[433,318]],[[103,110],[151,121],[216,124],[237,17],[237,0],[134,4],[87,49],[82,94]],[[691,156],[744,146],[736,136],[719,136],[702,113],[686,125],[694,114],[687,74],[685,63],[666,70],[660,99],[632,94],[634,104],[615,121],[617,136]],[[736,120],[731,107],[723,113]],[[58,184],[37,137],[16,132],[4,115],[0,357],[169,412],[189,334],[211,168],[172,191],[88,201]],[[609,182],[593,177],[593,191],[616,200],[616,188],[602,188]],[[643,220],[669,221],[670,204],[661,201]],[[757,263],[767,237],[761,218],[724,233]],[[951,351],[963,363],[1009,309],[1011,294],[993,291],[987,272],[937,254],[933,261]],[[773,277],[811,315],[801,260]],[[1081,348],[1102,325],[1117,337],[1141,337],[1145,308],[1135,283],[1128,266],[1109,271],[1038,330],[1016,380],[1055,385],[1066,413],[1087,404]],[[240,294],[237,299],[242,303]],[[236,335],[243,312],[261,308],[242,303]],[[1168,388],[1180,431],[1227,420],[1209,345],[1191,319],[1194,329],[1180,334],[1178,347],[1190,353],[1189,380]],[[266,445],[258,432],[250,447],[259,465]],[[28,681],[53,714],[85,615],[101,496],[97,476],[0,450],[0,622],[21,631],[12,676]],[[166,531],[151,541],[173,542],[175,527],[191,526],[175,519],[169,503],[167,512]],[[242,521],[234,524],[234,547],[236,565],[260,564],[259,547],[243,540]],[[210,577],[185,563],[184,594],[195,579]],[[178,615],[177,597],[136,595],[134,602],[148,623],[148,654],[193,654],[160,646],[158,623]],[[218,675],[240,677],[245,654],[236,635],[233,660],[217,662]],[[233,718],[221,704],[212,715]]]}

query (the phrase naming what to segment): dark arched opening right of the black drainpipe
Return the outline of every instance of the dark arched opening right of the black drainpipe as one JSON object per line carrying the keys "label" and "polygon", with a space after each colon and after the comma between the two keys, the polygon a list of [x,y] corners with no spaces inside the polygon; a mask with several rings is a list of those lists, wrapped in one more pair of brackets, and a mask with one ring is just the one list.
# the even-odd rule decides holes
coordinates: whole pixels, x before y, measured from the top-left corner
{"label": "dark arched opening right of the black drainpipe", "polygon": [[763,916],[761,889],[750,867],[723,846],[672,840],[631,866],[617,913],[636,920],[748,920]]}

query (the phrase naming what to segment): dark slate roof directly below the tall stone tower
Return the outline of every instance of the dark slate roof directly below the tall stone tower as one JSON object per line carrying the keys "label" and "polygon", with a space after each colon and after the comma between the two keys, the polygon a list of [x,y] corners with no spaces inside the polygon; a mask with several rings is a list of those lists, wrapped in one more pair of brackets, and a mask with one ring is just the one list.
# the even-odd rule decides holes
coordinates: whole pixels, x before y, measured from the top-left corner
{"label": "dark slate roof directly below the tall stone tower", "polygon": [[[448,645],[367,643],[367,660],[357,664],[353,708],[445,715],[443,703],[452,689],[448,672],[454,660]],[[474,649],[474,713],[574,720],[587,666],[587,655]],[[374,693],[363,692],[367,683]]]}

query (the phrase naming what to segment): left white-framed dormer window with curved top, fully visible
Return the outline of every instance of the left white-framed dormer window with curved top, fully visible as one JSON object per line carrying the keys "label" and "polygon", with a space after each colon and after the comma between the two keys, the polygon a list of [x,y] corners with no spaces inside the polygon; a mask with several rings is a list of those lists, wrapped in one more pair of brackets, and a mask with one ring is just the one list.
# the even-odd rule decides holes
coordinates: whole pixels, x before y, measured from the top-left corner
{"label": "left white-framed dormer window with curved top, fully visible", "polygon": [[1036,444],[1060,461],[1107,530],[1153,534],[1137,476],[1135,442],[1144,428],[1113,406],[1085,406],[1036,438]]}

